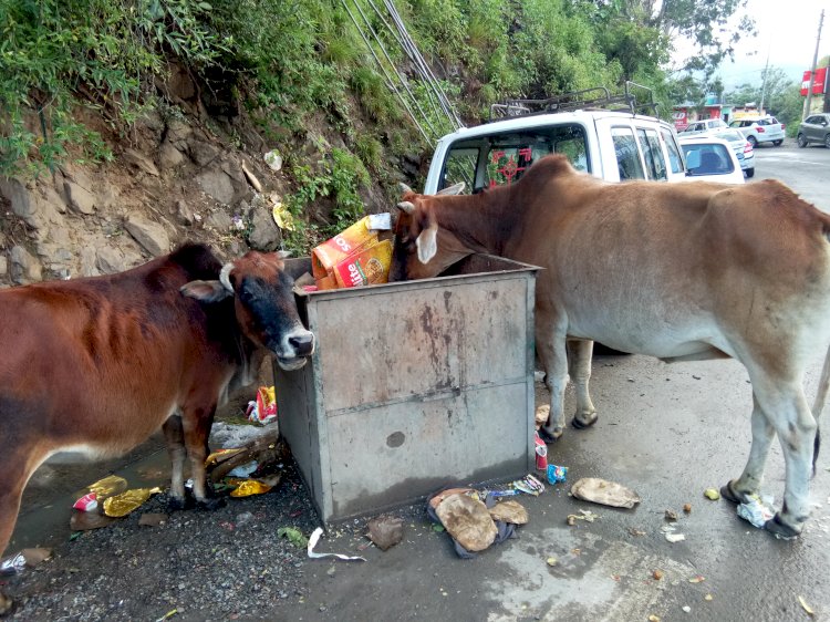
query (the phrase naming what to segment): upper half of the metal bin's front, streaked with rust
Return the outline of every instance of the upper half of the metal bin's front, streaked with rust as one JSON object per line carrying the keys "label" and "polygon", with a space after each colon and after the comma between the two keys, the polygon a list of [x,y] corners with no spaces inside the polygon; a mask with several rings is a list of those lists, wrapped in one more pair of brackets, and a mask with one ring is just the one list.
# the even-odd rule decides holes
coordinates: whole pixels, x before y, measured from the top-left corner
{"label": "upper half of the metal bin's front, streaked with rust", "polygon": [[526,291],[513,277],[320,302],[326,413],[523,380]]}

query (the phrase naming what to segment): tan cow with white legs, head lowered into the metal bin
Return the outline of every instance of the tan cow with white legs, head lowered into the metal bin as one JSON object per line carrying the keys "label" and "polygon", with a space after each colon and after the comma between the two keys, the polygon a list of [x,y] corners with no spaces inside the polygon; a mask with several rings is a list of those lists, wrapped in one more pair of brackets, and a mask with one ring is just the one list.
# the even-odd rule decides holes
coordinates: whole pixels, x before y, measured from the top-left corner
{"label": "tan cow with white legs, head lowered into the metal bin", "polygon": [[512,186],[403,198],[393,279],[433,277],[471,252],[546,268],[536,345],[551,393],[542,428],[550,440],[564,427],[569,372],[574,425],[596,419],[590,340],[666,361],[740,361],[753,383],[753,446],[723,493],[737,502],[758,491],[778,434],[784,505],[766,527],[801,532],[830,374],[826,363],[811,412],[802,379],[809,354],[830,341],[830,216],[775,180],[609,184],[561,155],[541,158]]}

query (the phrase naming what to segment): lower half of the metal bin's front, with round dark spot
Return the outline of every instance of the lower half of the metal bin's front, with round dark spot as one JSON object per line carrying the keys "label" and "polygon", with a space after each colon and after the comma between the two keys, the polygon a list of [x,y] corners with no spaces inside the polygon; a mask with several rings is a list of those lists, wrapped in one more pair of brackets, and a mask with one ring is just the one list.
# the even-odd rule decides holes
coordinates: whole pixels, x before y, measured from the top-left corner
{"label": "lower half of the metal bin's front, with round dark spot", "polygon": [[331,417],[333,516],[412,502],[450,485],[528,473],[523,384]]}

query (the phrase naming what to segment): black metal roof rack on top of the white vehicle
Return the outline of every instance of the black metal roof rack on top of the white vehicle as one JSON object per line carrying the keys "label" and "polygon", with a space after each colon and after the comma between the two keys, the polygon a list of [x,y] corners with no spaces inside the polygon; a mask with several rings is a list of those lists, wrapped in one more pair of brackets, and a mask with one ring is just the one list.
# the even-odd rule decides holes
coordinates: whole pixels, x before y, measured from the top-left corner
{"label": "black metal roof rack on top of the white vehicle", "polygon": [[[632,89],[647,93],[646,102],[640,103]],[[650,87],[635,82],[625,82],[622,95],[612,95],[605,86],[593,86],[581,91],[571,91],[546,100],[505,100],[490,105],[489,121],[499,121],[519,116],[538,114],[553,114],[558,112],[573,112],[578,110],[608,110],[630,112],[632,114],[657,114],[657,103],[654,102]]]}

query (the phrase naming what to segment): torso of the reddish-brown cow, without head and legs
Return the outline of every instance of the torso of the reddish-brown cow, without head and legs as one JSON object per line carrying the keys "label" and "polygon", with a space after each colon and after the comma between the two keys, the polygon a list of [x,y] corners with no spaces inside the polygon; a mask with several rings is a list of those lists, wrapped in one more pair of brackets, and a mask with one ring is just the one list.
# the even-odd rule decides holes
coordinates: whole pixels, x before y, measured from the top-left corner
{"label": "torso of the reddish-brown cow, without head and legs", "polygon": [[[120,274],[0,292],[0,417],[25,413],[48,450],[114,455],[146,439],[198,382],[212,381],[198,377],[200,361],[230,374],[216,313],[208,320],[179,292],[209,276],[205,268],[174,255]],[[219,304],[230,318],[232,302]]]}

